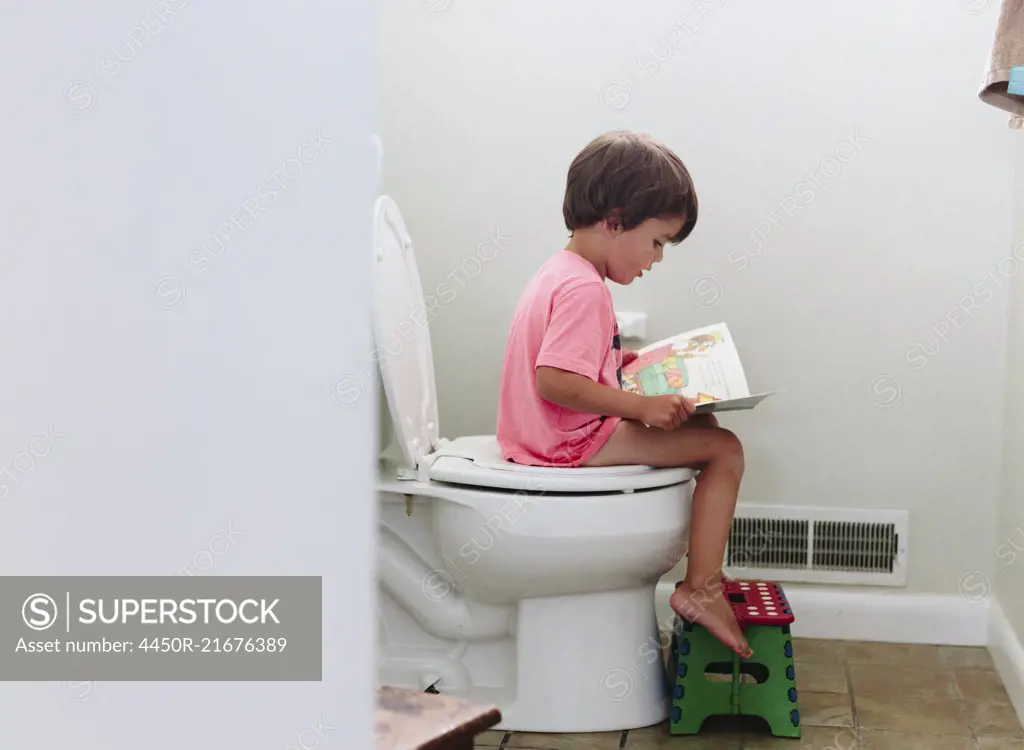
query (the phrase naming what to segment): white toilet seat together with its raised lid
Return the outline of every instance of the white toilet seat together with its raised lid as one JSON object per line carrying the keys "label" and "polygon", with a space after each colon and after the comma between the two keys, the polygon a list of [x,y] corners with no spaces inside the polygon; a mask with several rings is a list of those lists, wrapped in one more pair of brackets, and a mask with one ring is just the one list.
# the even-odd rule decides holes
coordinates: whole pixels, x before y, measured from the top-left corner
{"label": "white toilet seat together with its raised lid", "polygon": [[518,492],[630,492],[688,482],[694,471],[650,466],[547,467],[506,461],[495,435],[440,437],[430,308],[397,204],[374,206],[374,359],[401,454],[398,481],[434,481]]}

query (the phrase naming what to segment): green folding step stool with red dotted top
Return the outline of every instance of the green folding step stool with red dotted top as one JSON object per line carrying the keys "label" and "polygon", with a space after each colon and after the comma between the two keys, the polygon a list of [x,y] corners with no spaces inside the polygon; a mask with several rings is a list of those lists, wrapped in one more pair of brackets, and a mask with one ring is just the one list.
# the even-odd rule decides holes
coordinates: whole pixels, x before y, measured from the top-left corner
{"label": "green folding step stool with red dotted top", "polygon": [[[790,634],[795,618],[782,587],[767,581],[722,585],[754,657],[740,659],[701,625],[677,616],[668,664],[670,734],[696,735],[708,717],[732,715],[759,716],[775,737],[799,738],[797,668]],[[713,681],[707,674],[723,679]]]}

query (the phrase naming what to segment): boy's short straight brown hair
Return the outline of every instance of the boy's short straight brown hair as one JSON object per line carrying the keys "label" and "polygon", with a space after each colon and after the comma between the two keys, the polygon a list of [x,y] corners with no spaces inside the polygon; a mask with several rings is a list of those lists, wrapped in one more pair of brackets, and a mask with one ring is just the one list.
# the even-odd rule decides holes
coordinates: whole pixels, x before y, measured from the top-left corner
{"label": "boy's short straight brown hair", "polygon": [[613,130],[594,138],[569,166],[562,201],[571,233],[606,218],[632,230],[649,218],[682,218],[671,239],[685,240],[697,222],[697,195],[682,160],[648,135]]}

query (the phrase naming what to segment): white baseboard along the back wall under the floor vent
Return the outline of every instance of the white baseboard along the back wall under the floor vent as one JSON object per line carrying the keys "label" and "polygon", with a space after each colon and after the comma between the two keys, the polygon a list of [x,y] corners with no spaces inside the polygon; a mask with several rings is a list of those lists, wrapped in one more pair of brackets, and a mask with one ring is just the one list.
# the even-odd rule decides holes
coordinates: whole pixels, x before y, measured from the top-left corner
{"label": "white baseboard along the back wall under the floor vent", "polygon": [[[663,630],[672,628],[669,596],[673,589],[671,582],[663,581],[657,585],[655,605]],[[793,634],[797,637],[936,645],[987,645],[990,642],[987,600],[974,603],[956,594],[912,594],[800,584],[783,584],[783,589],[796,615]],[[1010,628],[1009,623],[1007,628]]]}

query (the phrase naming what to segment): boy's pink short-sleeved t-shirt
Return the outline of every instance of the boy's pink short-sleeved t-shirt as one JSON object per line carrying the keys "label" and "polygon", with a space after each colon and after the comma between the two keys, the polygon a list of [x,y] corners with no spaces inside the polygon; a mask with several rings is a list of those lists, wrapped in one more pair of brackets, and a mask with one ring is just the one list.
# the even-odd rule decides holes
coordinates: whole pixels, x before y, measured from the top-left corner
{"label": "boy's pink short-sleeved t-shirt", "polygon": [[534,275],[519,299],[502,367],[498,442],[506,460],[579,466],[622,421],[556,406],[537,391],[538,367],[622,387],[622,348],[611,293],[597,269],[568,250]]}

